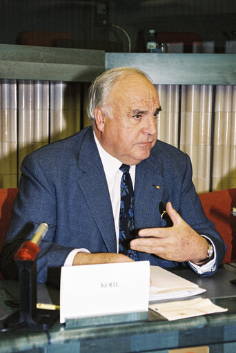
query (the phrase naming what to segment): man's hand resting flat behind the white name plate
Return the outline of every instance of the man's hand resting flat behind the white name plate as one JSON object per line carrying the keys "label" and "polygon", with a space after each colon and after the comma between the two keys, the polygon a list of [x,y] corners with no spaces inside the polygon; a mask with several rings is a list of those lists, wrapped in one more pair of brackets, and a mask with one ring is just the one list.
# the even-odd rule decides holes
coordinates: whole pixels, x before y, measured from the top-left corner
{"label": "man's hand resting flat behind the white name plate", "polygon": [[99,263],[129,263],[132,258],[124,254],[115,253],[97,253],[88,254],[83,252],[78,252],[75,255],[72,265],[96,265]]}

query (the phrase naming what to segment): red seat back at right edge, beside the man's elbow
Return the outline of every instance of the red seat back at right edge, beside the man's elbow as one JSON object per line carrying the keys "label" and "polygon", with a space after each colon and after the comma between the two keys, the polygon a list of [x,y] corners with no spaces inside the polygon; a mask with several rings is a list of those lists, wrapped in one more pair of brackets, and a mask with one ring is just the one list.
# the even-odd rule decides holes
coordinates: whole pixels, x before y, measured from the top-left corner
{"label": "red seat back at right edge, beside the man's elbow", "polygon": [[224,263],[236,262],[236,217],[231,214],[236,207],[236,188],[202,193],[199,195],[206,216],[215,223],[227,246]]}

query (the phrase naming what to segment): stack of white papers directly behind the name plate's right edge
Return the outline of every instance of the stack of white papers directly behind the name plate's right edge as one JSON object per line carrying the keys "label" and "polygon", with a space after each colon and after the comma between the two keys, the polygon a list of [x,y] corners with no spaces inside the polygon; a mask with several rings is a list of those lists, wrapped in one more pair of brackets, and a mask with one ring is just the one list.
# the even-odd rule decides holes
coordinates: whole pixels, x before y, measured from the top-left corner
{"label": "stack of white papers directly behind the name plate's right edge", "polygon": [[150,279],[152,286],[149,302],[185,298],[206,292],[206,289],[159,266],[150,266]]}

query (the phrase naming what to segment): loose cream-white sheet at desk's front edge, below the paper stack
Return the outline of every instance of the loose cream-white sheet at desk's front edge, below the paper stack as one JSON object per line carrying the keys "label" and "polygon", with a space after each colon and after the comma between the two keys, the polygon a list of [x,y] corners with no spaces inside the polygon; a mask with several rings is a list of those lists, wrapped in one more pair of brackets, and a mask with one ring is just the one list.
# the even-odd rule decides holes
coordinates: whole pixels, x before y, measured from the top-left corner
{"label": "loose cream-white sheet at desk's front edge, below the paper stack", "polygon": [[210,299],[195,298],[190,300],[173,301],[168,303],[155,303],[149,308],[164,316],[169,321],[180,318],[191,318],[214,312],[227,312],[227,308],[213,304]]}

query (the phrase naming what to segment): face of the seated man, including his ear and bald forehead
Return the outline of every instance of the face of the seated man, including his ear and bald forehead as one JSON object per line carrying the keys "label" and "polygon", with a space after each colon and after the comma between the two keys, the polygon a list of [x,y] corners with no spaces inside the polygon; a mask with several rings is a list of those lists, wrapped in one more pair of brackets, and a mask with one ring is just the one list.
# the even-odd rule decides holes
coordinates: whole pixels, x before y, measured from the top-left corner
{"label": "face of the seated man, including his ear and bald forehead", "polygon": [[[120,79],[103,108],[95,108],[95,133],[103,148],[122,163],[145,160],[157,140],[159,97],[139,74]],[[108,113],[106,113],[108,112]]]}

